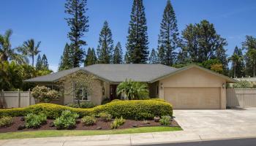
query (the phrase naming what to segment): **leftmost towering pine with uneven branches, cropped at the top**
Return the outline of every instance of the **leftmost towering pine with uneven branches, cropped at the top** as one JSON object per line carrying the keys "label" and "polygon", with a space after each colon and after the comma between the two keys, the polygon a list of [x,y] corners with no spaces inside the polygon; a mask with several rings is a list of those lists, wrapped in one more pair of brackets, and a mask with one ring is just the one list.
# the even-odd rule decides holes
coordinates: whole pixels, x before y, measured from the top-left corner
{"label": "leftmost towering pine with uneven branches, cropped at the top", "polygon": [[67,0],[65,4],[65,13],[70,15],[67,24],[70,27],[68,37],[70,39],[70,56],[72,67],[79,67],[83,61],[84,50],[83,46],[86,41],[81,39],[84,34],[89,31],[89,19],[86,16],[87,0]]}

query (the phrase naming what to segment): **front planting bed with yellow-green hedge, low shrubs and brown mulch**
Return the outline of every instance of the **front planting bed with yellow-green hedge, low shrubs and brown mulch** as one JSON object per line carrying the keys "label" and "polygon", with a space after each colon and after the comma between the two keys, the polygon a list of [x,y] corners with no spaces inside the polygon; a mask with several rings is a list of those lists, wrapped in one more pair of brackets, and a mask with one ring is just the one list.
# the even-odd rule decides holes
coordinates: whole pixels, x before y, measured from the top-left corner
{"label": "front planting bed with yellow-green hedge, low shrubs and brown mulch", "polygon": [[[143,126],[173,126],[172,106],[160,99],[115,100],[91,109],[36,104],[0,110],[0,132],[34,130],[110,130]],[[6,117],[8,116],[8,117]],[[13,118],[11,118],[12,116]]]}

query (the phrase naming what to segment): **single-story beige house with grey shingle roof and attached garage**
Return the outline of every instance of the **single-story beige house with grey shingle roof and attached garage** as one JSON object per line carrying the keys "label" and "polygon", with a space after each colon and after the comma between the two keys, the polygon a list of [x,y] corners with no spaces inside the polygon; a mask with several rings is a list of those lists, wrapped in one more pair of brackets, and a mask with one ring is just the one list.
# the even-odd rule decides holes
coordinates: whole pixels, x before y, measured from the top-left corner
{"label": "single-story beige house with grey shingle roof and attached garage", "polygon": [[[197,65],[176,69],[162,64],[94,64],[35,77],[25,82],[57,88],[56,82],[61,77],[78,71],[96,77],[91,95],[83,96],[83,101],[92,101],[94,104],[101,104],[104,98],[118,99],[117,85],[131,79],[146,82],[151,98],[165,99],[173,104],[174,109],[225,109],[226,84],[236,82]],[[64,96],[59,104],[75,101],[75,95],[68,95],[67,92],[64,85]]]}

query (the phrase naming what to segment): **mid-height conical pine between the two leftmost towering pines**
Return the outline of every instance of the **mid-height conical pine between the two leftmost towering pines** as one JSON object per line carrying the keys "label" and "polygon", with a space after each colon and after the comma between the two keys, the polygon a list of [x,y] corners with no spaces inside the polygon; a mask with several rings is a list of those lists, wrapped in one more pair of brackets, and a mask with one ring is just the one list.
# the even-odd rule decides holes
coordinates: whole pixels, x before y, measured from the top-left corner
{"label": "mid-height conical pine between the two leftmost towering pines", "polygon": [[113,54],[113,39],[112,32],[108,26],[108,22],[105,21],[102,31],[99,34],[99,45],[97,48],[98,63],[110,64],[112,62]]}

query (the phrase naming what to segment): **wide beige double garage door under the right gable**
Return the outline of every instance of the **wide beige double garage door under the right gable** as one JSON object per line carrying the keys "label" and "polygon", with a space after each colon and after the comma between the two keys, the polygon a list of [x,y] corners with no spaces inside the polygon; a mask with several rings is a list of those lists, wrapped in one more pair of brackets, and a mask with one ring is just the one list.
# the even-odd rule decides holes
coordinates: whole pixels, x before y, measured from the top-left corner
{"label": "wide beige double garage door under the right gable", "polygon": [[220,109],[220,88],[165,88],[173,109]]}

